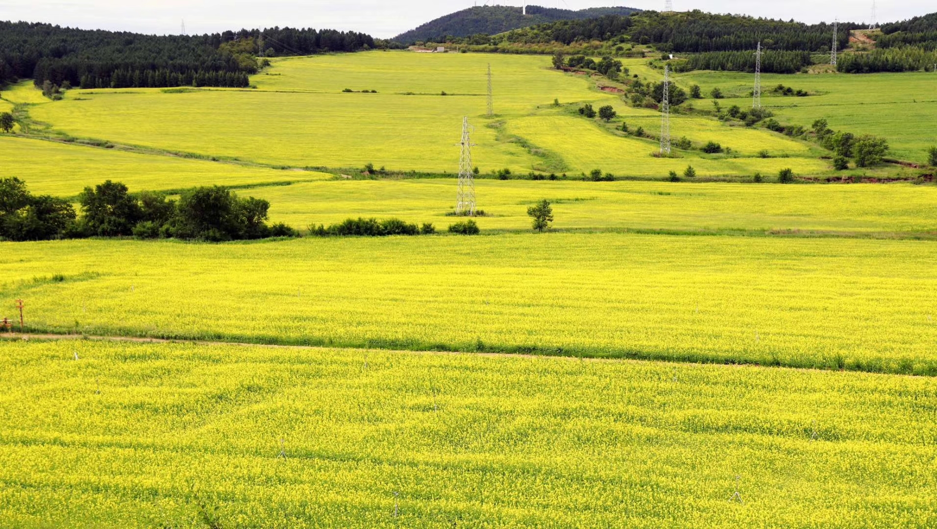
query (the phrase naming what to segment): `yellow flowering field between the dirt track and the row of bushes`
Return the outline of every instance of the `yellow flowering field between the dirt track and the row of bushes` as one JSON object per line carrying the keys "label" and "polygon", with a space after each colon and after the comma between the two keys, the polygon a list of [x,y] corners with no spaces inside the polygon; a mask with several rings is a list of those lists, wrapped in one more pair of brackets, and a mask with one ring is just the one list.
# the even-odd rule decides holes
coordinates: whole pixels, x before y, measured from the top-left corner
{"label": "yellow flowering field between the dirt track and the row of bushes", "polygon": [[35,331],[937,373],[932,242],[0,243],[0,268]]}

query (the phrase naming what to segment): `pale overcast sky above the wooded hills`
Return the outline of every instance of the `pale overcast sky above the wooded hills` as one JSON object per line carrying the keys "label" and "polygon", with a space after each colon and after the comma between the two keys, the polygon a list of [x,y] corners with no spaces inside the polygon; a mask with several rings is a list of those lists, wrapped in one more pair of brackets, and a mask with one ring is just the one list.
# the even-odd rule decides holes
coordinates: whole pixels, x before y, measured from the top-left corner
{"label": "pale overcast sky above the wooded hills", "polygon": [[[751,2],[714,0],[689,2],[673,0],[678,11],[699,8],[718,13],[744,13],[754,16],[791,18],[801,22],[866,22],[871,17],[871,0],[777,0]],[[481,5],[483,2],[478,2]],[[531,4],[547,7],[629,6],[659,9],[663,0],[543,0]],[[498,4],[521,6],[522,1]],[[394,37],[439,16],[471,7],[464,0],[0,0],[0,20],[52,22],[86,29],[126,30],[149,34],[177,34],[186,21],[188,34],[216,33],[226,29],[292,26],[334,28],[369,33],[374,37]],[[894,2],[879,0],[880,22],[903,20],[937,10],[933,0]]]}

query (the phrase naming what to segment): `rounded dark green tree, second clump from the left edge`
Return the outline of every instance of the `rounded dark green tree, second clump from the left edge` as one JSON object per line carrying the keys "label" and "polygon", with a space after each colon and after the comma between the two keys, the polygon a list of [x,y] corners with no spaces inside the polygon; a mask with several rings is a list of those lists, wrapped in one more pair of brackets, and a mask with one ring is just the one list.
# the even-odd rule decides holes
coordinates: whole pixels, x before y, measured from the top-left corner
{"label": "rounded dark green tree, second clump from the left edge", "polygon": [[132,235],[141,220],[140,205],[127,192],[126,185],[106,181],[94,188],[85,187],[79,197],[84,225],[94,235],[116,237]]}

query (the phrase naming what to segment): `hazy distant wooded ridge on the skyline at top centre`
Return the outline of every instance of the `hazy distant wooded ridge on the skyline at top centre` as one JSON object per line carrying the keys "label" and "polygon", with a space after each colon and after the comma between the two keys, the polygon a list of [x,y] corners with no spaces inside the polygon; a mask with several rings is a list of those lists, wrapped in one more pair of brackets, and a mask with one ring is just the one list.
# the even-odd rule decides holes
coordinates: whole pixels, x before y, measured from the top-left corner
{"label": "hazy distant wooded ridge on the skyline at top centre", "polygon": [[401,44],[413,44],[418,41],[439,42],[445,40],[444,37],[470,37],[480,33],[498,35],[498,33],[546,22],[594,19],[604,15],[625,16],[638,11],[640,9],[633,7],[589,7],[573,11],[572,9],[528,6],[528,14],[525,16],[521,7],[469,7],[435,21],[426,22],[416,29],[394,37],[394,40]]}

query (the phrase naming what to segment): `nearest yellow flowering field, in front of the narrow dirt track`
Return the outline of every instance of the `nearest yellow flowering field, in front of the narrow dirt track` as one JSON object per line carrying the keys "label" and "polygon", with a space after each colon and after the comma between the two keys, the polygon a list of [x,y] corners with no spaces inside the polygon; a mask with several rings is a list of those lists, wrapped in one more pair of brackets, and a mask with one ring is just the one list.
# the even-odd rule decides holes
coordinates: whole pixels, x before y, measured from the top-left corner
{"label": "nearest yellow flowering field, in front of the narrow dirt track", "polygon": [[9,527],[205,527],[200,504],[222,527],[937,522],[933,378],[82,341],[0,353]]}

